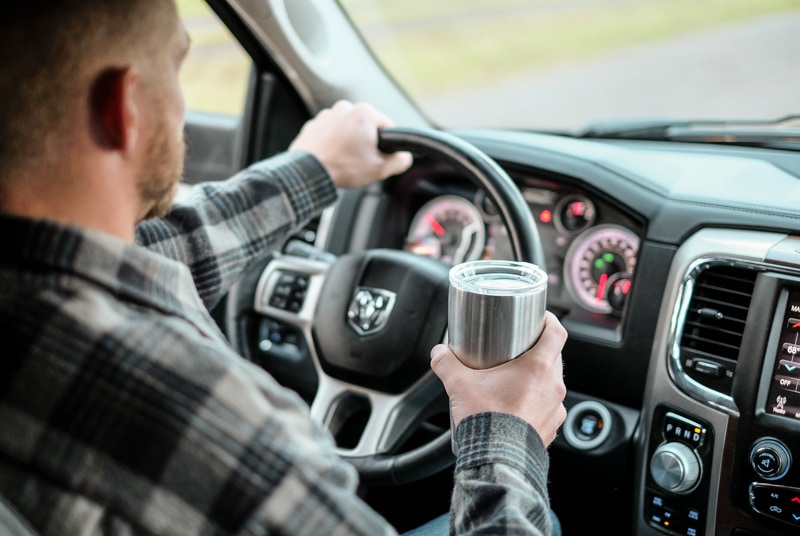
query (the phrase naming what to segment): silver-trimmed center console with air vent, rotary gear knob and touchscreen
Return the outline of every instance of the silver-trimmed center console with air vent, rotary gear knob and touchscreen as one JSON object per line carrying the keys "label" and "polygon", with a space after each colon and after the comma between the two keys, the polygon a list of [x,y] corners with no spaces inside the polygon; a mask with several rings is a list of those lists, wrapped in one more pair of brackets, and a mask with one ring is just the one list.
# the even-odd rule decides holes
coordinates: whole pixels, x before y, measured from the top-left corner
{"label": "silver-trimmed center console with air vent, rotary gear knob and touchscreen", "polygon": [[704,230],[671,267],[636,534],[800,534],[800,238]]}

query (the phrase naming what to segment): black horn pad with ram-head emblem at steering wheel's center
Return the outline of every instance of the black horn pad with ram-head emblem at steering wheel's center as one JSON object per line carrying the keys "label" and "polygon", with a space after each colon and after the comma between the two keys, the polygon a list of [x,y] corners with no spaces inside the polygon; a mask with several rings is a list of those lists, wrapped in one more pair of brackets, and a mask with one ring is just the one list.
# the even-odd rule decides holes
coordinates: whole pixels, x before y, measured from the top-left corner
{"label": "black horn pad with ram-head emblem at steering wheel's center", "polygon": [[[351,307],[359,290],[361,307]],[[380,296],[394,294],[384,323],[370,323]],[[314,314],[312,335],[320,365],[335,378],[400,393],[430,370],[430,350],[447,329],[449,268],[404,251],[374,249],[344,255],[331,267]],[[377,303],[370,295],[378,297]],[[353,310],[362,322],[353,325]],[[359,315],[360,313],[360,315]],[[364,329],[366,328],[366,329]]]}

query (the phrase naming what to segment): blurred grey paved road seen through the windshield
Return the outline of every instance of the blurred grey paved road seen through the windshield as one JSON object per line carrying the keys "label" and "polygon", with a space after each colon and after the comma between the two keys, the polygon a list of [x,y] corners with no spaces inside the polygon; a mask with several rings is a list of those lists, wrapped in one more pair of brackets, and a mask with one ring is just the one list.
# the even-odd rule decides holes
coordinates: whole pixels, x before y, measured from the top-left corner
{"label": "blurred grey paved road seen through the windshield", "polygon": [[578,129],[607,119],[800,113],[800,10],[420,100],[448,127]]}

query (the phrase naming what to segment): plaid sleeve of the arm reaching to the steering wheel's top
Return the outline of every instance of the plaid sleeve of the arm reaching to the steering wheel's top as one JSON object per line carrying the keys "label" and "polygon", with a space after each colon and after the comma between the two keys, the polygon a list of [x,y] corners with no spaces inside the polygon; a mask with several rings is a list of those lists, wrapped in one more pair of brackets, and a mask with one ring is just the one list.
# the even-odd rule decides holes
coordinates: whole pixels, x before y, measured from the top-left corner
{"label": "plaid sleeve of the arm reaching to the steering wheel's top", "polygon": [[136,242],[187,265],[207,308],[337,198],[311,154],[283,153],[222,182],[192,187],[163,218],[136,228]]}

